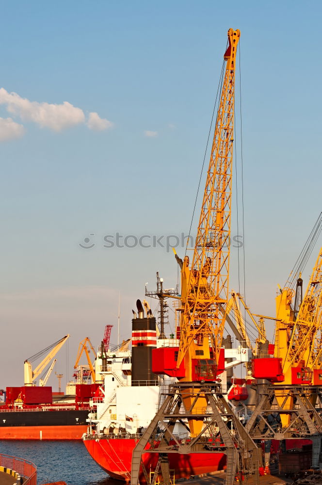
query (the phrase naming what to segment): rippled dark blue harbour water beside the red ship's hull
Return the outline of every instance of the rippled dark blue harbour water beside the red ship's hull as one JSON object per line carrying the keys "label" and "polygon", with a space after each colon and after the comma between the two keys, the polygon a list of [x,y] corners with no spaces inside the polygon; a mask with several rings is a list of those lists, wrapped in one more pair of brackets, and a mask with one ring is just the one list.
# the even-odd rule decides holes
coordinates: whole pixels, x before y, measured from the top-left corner
{"label": "rippled dark blue harbour water beside the red ship's hull", "polygon": [[37,484],[66,482],[67,485],[117,485],[98,467],[81,441],[0,440],[0,453],[32,461]]}

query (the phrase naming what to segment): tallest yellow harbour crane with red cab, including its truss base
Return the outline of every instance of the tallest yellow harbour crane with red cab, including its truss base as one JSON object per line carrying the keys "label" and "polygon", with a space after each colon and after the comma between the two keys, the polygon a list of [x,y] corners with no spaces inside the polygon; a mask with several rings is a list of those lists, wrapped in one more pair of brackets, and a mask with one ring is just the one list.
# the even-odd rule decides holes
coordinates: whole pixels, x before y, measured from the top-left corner
{"label": "tallest yellow harbour crane with red cab, including its truss base", "polygon": [[[221,344],[228,302],[235,68],[239,38],[239,30],[229,29],[223,84],[191,265],[188,256],[181,260],[175,253],[181,268],[179,346],[153,351],[154,356],[160,356],[159,362],[164,362],[163,367],[156,367],[156,372],[177,377],[178,382],[169,385],[161,395],[156,416],[134,448],[131,485],[138,484],[141,469],[147,484],[155,485],[156,477],[161,474],[164,485],[170,485],[168,456],[182,453],[189,457],[195,452],[204,453],[205,461],[208,453],[226,453],[226,485],[233,485],[236,469],[254,472],[254,483],[258,483],[258,448],[225,400],[218,378],[225,368]],[[187,439],[176,436],[176,423],[187,429]],[[218,436],[220,445],[214,446],[213,436]],[[151,483],[142,460],[147,452],[158,453],[155,478]]]}

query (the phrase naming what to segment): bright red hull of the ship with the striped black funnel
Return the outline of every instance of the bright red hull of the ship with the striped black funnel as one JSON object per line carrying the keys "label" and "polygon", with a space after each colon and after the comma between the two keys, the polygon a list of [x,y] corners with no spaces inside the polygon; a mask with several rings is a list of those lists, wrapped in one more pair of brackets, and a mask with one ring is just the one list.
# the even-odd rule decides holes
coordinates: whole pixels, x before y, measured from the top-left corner
{"label": "bright red hull of the ship with the striped black funnel", "polygon": [[[138,439],[135,438],[97,438],[84,440],[84,445],[88,453],[106,473],[118,480],[129,482],[132,452],[137,442]],[[158,453],[143,454],[145,468],[148,472],[150,468],[155,469],[158,458]],[[170,469],[175,470],[176,479],[222,470],[226,464],[225,453],[169,453],[168,458]],[[145,482],[143,474],[140,475],[140,482]]]}

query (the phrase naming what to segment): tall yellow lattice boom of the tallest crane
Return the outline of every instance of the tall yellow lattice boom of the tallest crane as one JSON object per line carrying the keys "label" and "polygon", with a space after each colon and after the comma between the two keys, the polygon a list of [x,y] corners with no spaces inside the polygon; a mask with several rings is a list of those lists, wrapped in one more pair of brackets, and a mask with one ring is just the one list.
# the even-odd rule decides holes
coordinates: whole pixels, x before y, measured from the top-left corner
{"label": "tall yellow lattice boom of the tallest crane", "polygon": [[[231,182],[234,139],[235,61],[240,31],[229,29],[224,82],[220,97],[209,169],[201,207],[193,260],[185,258],[187,275],[182,295],[182,319],[177,367],[193,340],[211,341],[218,360],[225,318],[219,305],[228,301]],[[184,294],[185,293],[185,294]]]}

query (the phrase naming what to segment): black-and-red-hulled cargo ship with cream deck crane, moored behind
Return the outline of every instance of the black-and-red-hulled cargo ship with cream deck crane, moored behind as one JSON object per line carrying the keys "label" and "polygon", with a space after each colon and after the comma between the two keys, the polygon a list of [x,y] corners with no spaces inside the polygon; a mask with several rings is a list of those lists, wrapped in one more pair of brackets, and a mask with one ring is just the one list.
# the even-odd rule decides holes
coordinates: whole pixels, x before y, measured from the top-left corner
{"label": "black-and-red-hulled cargo ship with cream deck crane, moored behind", "polygon": [[[102,384],[99,380],[102,355],[97,354],[95,361],[98,376],[95,383],[74,382],[73,386],[70,383],[67,385],[68,389],[73,388],[74,395],[53,395],[52,388],[44,385],[53,365],[46,377],[39,379],[39,386],[35,385],[35,378],[40,376],[68,337],[69,335],[65,336],[50,348],[25,361],[24,386],[6,388],[5,401],[0,405],[0,439],[81,440],[87,430],[89,400],[99,395],[99,386]],[[48,355],[32,370],[34,357],[47,353],[48,349]]]}

